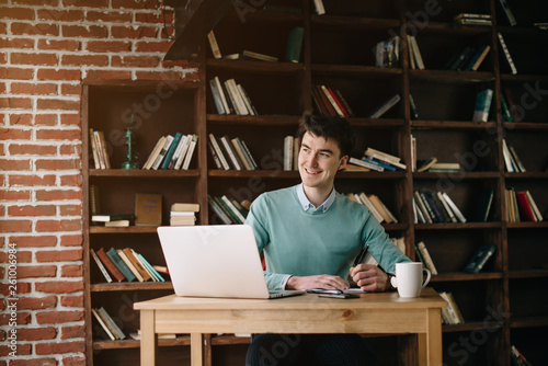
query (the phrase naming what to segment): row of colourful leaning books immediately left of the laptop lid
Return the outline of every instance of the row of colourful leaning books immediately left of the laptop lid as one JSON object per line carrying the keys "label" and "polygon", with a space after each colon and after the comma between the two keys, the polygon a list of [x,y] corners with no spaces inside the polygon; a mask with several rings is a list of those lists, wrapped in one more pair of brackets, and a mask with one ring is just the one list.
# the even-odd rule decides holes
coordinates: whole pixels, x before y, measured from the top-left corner
{"label": "row of colourful leaning books immediately left of the laptop lid", "polygon": [[[101,270],[107,283],[114,277],[117,282],[165,282],[160,273],[139,253],[132,248],[105,251],[100,248],[96,252],[91,248],[90,254]],[[111,277],[112,275],[112,277]]]}

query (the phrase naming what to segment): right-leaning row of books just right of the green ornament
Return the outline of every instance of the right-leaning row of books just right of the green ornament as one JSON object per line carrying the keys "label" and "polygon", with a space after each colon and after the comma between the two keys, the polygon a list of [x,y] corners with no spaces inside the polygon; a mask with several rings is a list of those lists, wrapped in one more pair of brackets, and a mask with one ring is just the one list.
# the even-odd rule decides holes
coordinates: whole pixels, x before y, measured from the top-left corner
{"label": "right-leaning row of books just right of the green ornament", "polygon": [[198,135],[196,134],[183,135],[178,131],[174,136],[162,136],[156,142],[142,169],[187,170],[197,141]]}

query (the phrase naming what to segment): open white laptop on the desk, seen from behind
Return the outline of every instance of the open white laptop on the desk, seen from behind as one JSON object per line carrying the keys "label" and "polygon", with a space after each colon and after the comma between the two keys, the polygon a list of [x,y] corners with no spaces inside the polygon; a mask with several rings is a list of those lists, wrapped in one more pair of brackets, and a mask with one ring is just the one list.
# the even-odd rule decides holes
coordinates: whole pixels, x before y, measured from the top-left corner
{"label": "open white laptop on the desk, seen from behind", "polygon": [[158,236],[178,296],[277,298],[269,291],[249,225],[164,226]]}

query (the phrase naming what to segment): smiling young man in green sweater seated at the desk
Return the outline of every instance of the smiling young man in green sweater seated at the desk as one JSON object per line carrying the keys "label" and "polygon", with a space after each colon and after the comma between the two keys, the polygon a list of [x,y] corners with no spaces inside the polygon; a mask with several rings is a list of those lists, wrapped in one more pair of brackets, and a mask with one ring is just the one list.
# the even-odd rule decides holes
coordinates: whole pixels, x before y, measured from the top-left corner
{"label": "smiling young man in green sweater seated at the desk", "polygon": [[[299,126],[298,169],[301,183],[260,195],[246,220],[263,251],[271,289],[345,289],[352,281],[363,290],[390,289],[398,262],[409,259],[363,205],[334,190],[334,179],[354,147],[346,119],[307,117]],[[359,251],[369,252],[381,268],[358,264]],[[282,352],[282,351],[284,352]],[[376,365],[356,334],[256,334],[247,365]]]}

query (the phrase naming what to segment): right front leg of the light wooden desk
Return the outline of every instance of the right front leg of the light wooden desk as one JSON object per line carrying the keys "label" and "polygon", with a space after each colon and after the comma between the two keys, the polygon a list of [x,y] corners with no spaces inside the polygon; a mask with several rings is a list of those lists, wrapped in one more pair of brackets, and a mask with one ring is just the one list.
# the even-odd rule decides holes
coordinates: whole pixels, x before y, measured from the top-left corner
{"label": "right front leg of the light wooden desk", "polygon": [[426,333],[419,334],[419,365],[442,366],[442,310],[427,310]]}

